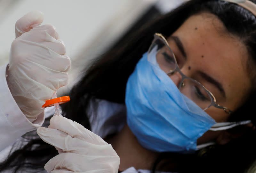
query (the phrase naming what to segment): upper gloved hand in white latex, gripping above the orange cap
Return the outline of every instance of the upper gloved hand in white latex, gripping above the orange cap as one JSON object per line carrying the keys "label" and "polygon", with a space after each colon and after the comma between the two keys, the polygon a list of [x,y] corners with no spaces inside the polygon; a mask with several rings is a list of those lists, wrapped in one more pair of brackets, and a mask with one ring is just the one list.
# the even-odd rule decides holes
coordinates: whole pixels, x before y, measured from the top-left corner
{"label": "upper gloved hand in white latex, gripping above the orange cap", "polygon": [[7,83],[25,116],[33,122],[44,112],[42,105],[54,91],[68,83],[70,59],[52,25],[39,26],[43,13],[32,11],[15,25]]}

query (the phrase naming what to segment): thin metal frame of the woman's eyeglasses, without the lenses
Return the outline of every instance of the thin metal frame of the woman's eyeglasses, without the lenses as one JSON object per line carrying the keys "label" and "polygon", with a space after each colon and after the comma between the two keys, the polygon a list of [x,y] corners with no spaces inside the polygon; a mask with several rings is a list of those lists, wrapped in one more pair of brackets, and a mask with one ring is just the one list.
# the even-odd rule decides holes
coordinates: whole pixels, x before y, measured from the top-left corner
{"label": "thin metal frame of the woman's eyeglasses, without the lenses", "polygon": [[[210,98],[211,98],[211,100],[212,100],[212,101],[211,101],[211,104],[210,104],[207,108],[205,108],[204,111],[205,111],[206,109],[208,109],[209,107],[214,106],[214,107],[216,107],[216,108],[223,109],[223,110],[224,110],[226,113],[228,113],[228,114],[231,114],[232,111],[231,111],[230,109],[228,109],[227,107],[221,106],[221,105],[219,105],[218,103],[216,103],[216,98],[214,97],[214,95],[212,94],[212,92],[209,91],[207,88],[205,88],[203,84],[201,84],[200,82],[196,81],[195,79],[192,79],[191,77],[188,77],[188,76],[184,75],[184,74],[180,71],[180,68],[179,68],[179,65],[178,65],[178,63],[177,63],[175,54],[173,53],[171,47],[169,46],[169,43],[167,42],[167,40],[164,38],[164,36],[163,36],[161,33],[155,33],[155,34],[154,34],[154,39],[153,39],[152,43],[153,43],[154,41],[156,41],[157,39],[162,39],[162,40],[164,41],[165,45],[169,47],[169,49],[171,50],[171,53],[172,53],[172,55],[173,55],[173,57],[174,57],[176,67],[175,67],[175,69],[174,69],[173,71],[170,70],[171,72],[168,72],[168,73],[166,73],[166,74],[167,74],[168,76],[170,76],[170,75],[174,74],[175,72],[179,72],[179,73],[180,73],[180,75],[181,75],[181,81],[180,81],[180,83],[179,83],[178,89],[180,90],[180,88],[181,88],[182,85],[184,84],[183,82],[184,82],[185,79],[190,79],[190,80],[196,82],[197,84],[201,85],[201,86],[206,90],[207,94],[210,96]],[[150,47],[149,47],[148,50],[151,50],[152,43],[151,43],[151,45],[150,45]],[[149,51],[148,51],[148,52],[149,52]]]}

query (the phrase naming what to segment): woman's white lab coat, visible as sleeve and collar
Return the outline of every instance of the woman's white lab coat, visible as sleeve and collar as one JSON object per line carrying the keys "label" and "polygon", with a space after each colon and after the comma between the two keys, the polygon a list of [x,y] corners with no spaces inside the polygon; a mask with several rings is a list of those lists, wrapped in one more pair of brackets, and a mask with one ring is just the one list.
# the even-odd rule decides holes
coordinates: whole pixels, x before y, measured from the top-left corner
{"label": "woman's white lab coat, visible as sleeve and collar", "polygon": [[[31,123],[20,111],[20,108],[12,97],[6,82],[6,67],[7,64],[0,67],[0,161],[3,161],[8,155],[13,142],[19,140],[23,134],[36,130],[37,127],[41,126],[44,122],[44,115],[48,117],[54,113],[53,107],[47,108],[44,113],[39,115],[38,118]],[[99,100],[99,108],[97,115],[93,115],[89,119],[92,132],[104,138],[108,134],[120,131],[126,121],[125,106]],[[88,114],[93,114],[93,111],[88,112]],[[6,173],[8,172],[10,171],[6,171]],[[136,170],[134,167],[123,171],[123,173],[149,172],[149,170]]]}

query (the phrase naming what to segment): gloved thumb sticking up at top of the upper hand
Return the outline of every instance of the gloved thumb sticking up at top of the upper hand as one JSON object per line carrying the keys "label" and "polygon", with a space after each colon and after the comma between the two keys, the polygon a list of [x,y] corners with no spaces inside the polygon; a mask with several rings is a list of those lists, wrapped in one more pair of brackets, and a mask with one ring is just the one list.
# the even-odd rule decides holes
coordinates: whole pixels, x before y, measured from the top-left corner
{"label": "gloved thumb sticking up at top of the upper hand", "polygon": [[28,32],[30,29],[39,26],[44,20],[44,13],[41,11],[30,11],[22,18],[17,20],[15,24],[16,38],[20,37],[22,33]]}

